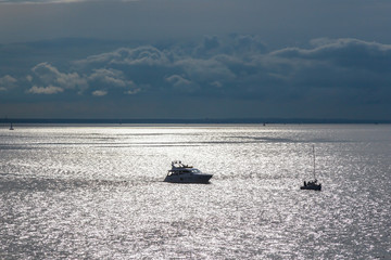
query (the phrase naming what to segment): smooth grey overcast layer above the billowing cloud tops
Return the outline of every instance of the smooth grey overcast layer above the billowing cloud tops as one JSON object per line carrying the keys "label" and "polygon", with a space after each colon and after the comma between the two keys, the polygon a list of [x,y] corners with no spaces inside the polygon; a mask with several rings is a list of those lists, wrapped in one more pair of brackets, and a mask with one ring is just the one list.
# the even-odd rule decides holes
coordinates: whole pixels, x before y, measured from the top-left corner
{"label": "smooth grey overcast layer above the billowing cloud tops", "polygon": [[[387,0],[376,0],[374,3],[367,0],[343,3],[336,0],[305,0],[299,3],[290,0],[245,0],[244,3],[229,1],[229,4],[222,4],[220,0],[1,2],[8,3],[2,4],[0,10],[1,43],[75,37],[133,41],[144,46],[146,42],[178,42],[204,35],[215,43],[215,36],[219,40],[223,35],[239,32],[256,35],[278,49],[325,36],[352,36],[380,42],[390,42],[391,38],[387,34],[391,3]],[[207,42],[211,41],[205,40]]]}

